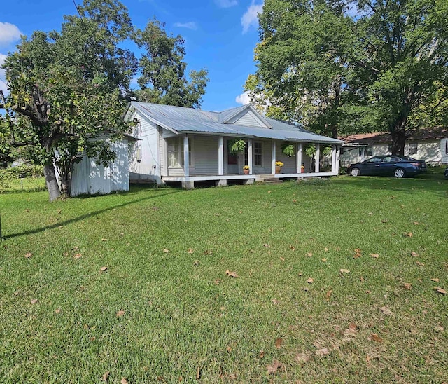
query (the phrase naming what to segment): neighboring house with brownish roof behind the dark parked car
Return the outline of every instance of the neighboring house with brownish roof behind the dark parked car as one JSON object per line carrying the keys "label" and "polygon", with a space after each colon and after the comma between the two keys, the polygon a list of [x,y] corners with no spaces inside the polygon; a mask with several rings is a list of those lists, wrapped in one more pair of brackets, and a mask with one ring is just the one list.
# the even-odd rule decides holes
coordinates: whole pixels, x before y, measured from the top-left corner
{"label": "neighboring house with brownish roof behind the dark parked car", "polygon": [[[341,137],[341,165],[346,167],[372,156],[391,154],[392,137],[375,132]],[[405,156],[425,160],[428,164],[448,163],[448,128],[420,128],[406,134]]]}

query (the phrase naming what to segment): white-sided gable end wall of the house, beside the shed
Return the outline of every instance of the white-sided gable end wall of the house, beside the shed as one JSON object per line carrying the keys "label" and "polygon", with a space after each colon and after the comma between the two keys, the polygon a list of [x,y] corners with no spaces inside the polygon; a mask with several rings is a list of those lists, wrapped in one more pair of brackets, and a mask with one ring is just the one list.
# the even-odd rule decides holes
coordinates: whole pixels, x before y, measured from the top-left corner
{"label": "white-sided gable end wall of the house, beside the shed", "polygon": [[130,146],[130,179],[155,179],[160,182],[158,127],[140,114],[137,114],[136,118],[139,125],[134,130],[134,137],[140,140]]}

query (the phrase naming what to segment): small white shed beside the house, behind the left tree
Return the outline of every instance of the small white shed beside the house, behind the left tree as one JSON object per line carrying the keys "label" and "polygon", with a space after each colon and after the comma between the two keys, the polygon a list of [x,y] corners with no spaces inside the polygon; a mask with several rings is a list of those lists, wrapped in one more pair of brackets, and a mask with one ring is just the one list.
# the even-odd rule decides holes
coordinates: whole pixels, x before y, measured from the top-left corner
{"label": "small white shed beside the house, behind the left tree", "polygon": [[70,196],[129,191],[129,144],[136,139],[125,135],[120,142],[111,142],[108,135],[103,135],[95,140],[109,141],[116,158],[104,167],[95,159],[83,156],[83,160],[73,166]]}

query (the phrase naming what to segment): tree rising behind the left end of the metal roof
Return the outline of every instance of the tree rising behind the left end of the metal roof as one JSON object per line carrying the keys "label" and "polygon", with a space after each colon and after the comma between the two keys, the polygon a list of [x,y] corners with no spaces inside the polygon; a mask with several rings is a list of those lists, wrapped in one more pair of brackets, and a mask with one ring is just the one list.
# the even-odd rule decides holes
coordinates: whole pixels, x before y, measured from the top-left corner
{"label": "tree rising behind the left end of the metal roof", "polygon": [[137,98],[143,102],[200,107],[209,81],[207,71],[190,71],[188,81],[184,40],[180,35],[168,36],[164,28],[165,24],[153,20],[134,35],[139,48],[146,50],[139,60],[141,90],[137,91]]}

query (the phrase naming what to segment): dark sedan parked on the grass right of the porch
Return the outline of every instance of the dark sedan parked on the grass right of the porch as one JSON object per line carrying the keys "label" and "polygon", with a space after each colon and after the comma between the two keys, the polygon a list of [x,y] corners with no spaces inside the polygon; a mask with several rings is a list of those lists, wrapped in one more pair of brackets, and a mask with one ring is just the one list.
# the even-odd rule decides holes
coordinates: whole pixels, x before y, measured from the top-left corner
{"label": "dark sedan parked on the grass right of the porch", "polygon": [[374,156],[360,163],[351,164],[351,176],[395,176],[399,179],[426,172],[426,163],[408,156]]}

